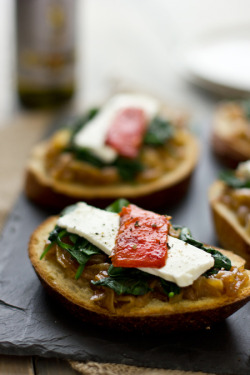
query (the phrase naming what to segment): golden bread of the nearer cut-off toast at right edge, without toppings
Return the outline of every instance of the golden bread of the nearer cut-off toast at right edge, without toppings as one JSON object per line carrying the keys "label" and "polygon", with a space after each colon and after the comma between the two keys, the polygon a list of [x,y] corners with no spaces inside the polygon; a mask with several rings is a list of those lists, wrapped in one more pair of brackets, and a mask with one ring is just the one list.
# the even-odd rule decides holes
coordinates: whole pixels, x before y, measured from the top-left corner
{"label": "golden bread of the nearer cut-off toast at right edge, without toppings", "polygon": [[225,184],[218,180],[209,189],[215,230],[221,246],[239,254],[250,268],[250,235],[239,224],[235,213],[219,200],[224,187]]}

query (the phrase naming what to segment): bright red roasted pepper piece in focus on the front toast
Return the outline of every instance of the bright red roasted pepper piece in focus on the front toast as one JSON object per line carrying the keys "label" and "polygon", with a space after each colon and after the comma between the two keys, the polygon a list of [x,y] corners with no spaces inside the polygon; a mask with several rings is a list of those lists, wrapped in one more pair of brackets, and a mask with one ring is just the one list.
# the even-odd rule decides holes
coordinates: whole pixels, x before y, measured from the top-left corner
{"label": "bright red roasted pepper piece in focus on the front toast", "polygon": [[123,207],[111,257],[115,267],[161,268],[167,259],[169,221],[133,204]]}

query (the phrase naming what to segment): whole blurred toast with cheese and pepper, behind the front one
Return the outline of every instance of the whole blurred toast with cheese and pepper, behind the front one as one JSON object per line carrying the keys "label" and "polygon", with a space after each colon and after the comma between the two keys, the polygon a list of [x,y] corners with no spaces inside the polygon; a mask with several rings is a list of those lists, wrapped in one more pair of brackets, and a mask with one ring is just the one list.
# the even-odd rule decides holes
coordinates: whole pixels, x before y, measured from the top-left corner
{"label": "whole blurred toast with cheese and pepper, behind the front one", "polygon": [[178,200],[197,163],[198,144],[176,113],[138,94],[119,94],[90,110],[34,148],[28,197],[59,207],[78,200],[106,207],[121,196],[146,207]]}

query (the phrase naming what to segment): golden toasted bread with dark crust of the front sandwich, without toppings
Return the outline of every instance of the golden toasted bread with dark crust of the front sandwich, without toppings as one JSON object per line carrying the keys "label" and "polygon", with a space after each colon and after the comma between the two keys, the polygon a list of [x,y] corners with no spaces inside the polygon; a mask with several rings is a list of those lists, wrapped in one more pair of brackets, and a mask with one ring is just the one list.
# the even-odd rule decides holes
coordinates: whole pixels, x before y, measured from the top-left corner
{"label": "golden toasted bread with dark crust of the front sandwich, without toppings", "polygon": [[[29,243],[29,257],[44,287],[82,321],[143,333],[197,329],[227,318],[250,300],[249,282],[237,297],[202,298],[198,301],[182,300],[177,303],[152,299],[144,307],[110,313],[90,300],[93,292],[87,281],[82,278],[78,281],[72,279],[59,264],[49,259],[40,260],[45,241],[56,220],[57,217],[50,217],[34,231]],[[229,256],[235,265],[244,263],[232,252],[222,252]]]}

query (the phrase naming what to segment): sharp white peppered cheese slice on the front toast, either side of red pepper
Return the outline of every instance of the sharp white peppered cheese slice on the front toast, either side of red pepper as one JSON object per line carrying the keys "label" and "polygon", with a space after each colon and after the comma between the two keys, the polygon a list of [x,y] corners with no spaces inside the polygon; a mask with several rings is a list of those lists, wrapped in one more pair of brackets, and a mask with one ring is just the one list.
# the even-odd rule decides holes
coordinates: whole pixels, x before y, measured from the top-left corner
{"label": "sharp white peppered cheese slice on the front toast, either side of red pepper", "polygon": [[[60,217],[57,224],[86,238],[110,256],[119,231],[120,216],[82,202],[74,211]],[[168,245],[170,248],[164,267],[140,269],[185,287],[214,265],[210,254],[184,241],[168,236]]]}

